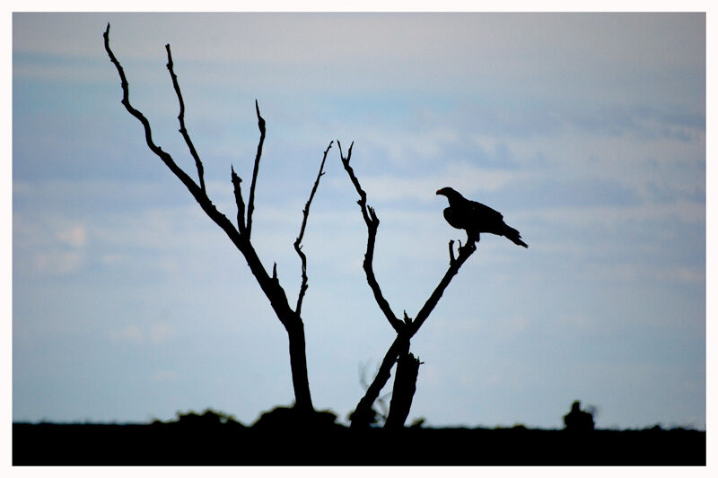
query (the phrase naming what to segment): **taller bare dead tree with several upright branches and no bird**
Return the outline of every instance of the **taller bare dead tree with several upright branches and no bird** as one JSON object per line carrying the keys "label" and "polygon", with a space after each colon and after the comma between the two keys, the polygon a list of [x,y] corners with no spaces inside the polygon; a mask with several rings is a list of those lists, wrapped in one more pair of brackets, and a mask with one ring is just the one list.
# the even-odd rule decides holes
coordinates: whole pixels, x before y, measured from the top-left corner
{"label": "taller bare dead tree with several upright branches and no bird", "polygon": [[180,134],[187,143],[189,153],[195,161],[197,167],[197,177],[199,178],[199,185],[194,179],[190,178],[189,175],[177,165],[168,152],[162,151],[162,148],[154,143],[152,137],[152,129],[150,122],[138,109],[132,106],[129,100],[129,86],[127,78],[122,66],[119,64],[118,59],[112,53],[109,48],[109,23],[107,30],[103,34],[105,50],[109,56],[109,60],[117,68],[120,84],[122,88],[122,100],[121,103],[124,105],[127,112],[142,124],[144,128],[144,139],[149,149],[156,154],[162,162],[171,170],[171,172],[180,179],[182,184],[187,187],[189,193],[195,198],[197,204],[200,205],[202,210],[209,216],[209,218],[219,226],[227,237],[232,240],[232,244],[238,248],[247,261],[247,265],[250,266],[250,271],[256,278],[259,287],[267,296],[272,309],[274,309],[276,317],[285,327],[287,336],[289,339],[289,361],[292,369],[292,381],[295,399],[295,410],[302,413],[313,412],[314,408],[311,404],[311,393],[309,387],[309,378],[307,375],[307,359],[306,359],[306,345],[304,339],[304,323],[301,317],[302,300],[304,294],[307,291],[307,258],[302,252],[302,238],[304,230],[307,226],[307,219],[309,217],[309,211],[311,201],[314,198],[317,188],[320,184],[320,178],[324,175],[324,163],[327,160],[327,153],[331,148],[332,143],[329,143],[327,149],[324,151],[324,157],[321,160],[320,170],[317,174],[317,178],[314,181],[314,186],[311,188],[311,194],[309,200],[304,206],[302,211],[302,227],[299,232],[299,236],[294,241],[294,249],[300,257],[302,262],[302,285],[300,286],[296,306],[294,309],[289,305],[285,290],[279,283],[279,279],[276,274],[276,263],[272,268],[272,275],[267,273],[267,269],[259,260],[255,248],[252,246],[250,241],[251,229],[252,229],[252,213],[254,212],[254,192],[257,185],[257,176],[259,170],[259,160],[262,155],[262,145],[264,144],[266,136],[266,123],[263,117],[259,114],[259,105],[255,100],[255,109],[257,112],[258,127],[259,127],[259,143],[257,146],[257,155],[254,160],[254,169],[252,171],[252,181],[250,186],[250,197],[246,207],[246,218],[245,218],[245,204],[241,194],[241,178],[234,172],[232,166],[232,186],[234,187],[234,199],[237,204],[237,227],[227,219],[227,217],[220,213],[215,204],[206,194],[205,178],[204,178],[204,167],[202,161],[199,158],[199,154],[192,143],[188,130],[185,126],[185,104],[182,100],[182,94],[180,91],[180,84],[178,83],[177,75],[174,73],[174,64],[172,63],[172,56],[170,45],[166,45],[167,50],[167,69],[170,72],[172,85],[175,92],[177,93],[177,99],[180,103],[180,114],[178,119],[180,121]]}

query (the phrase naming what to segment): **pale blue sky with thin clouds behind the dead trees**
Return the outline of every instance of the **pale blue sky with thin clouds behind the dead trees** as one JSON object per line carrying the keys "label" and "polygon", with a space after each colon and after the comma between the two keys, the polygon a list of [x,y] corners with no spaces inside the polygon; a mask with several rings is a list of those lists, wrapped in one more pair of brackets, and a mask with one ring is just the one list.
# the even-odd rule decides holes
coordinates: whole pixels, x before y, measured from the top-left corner
{"label": "pale blue sky with thin clouds behind the dead trees", "polygon": [[[416,314],[445,271],[439,187],[503,213],[412,351],[409,422],[705,427],[705,15],[13,14],[13,420],[241,422],[293,392],[285,331],[241,254],[144,145],[228,215],[267,120],[253,239],[290,298],[321,154],[355,142],[375,271]],[[304,237],[312,398],[344,421],[393,340],[335,146]],[[290,299],[291,300],[291,299]],[[387,390],[389,391],[389,390]]]}

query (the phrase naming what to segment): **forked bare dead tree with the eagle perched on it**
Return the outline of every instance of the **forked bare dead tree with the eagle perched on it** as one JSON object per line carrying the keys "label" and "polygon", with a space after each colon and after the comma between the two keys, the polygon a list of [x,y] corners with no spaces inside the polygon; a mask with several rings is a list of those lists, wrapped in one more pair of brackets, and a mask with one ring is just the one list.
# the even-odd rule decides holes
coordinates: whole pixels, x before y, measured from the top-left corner
{"label": "forked bare dead tree with the eagle perched on it", "polygon": [[385,428],[400,428],[404,426],[404,422],[407,420],[409,408],[411,407],[411,401],[416,391],[416,377],[418,374],[419,364],[417,358],[409,352],[411,345],[411,338],[416,335],[419,328],[425,323],[426,319],[432,313],[434,307],[442,298],[443,291],[449,286],[451,279],[454,275],[459,273],[461,265],[463,265],[469,256],[471,256],[476,250],[476,243],[474,241],[468,241],[467,244],[459,246],[459,256],[454,256],[454,241],[449,241],[449,268],[446,273],[443,274],[441,281],[433,290],[429,299],[426,300],[424,306],[416,314],[416,317],[412,320],[408,317],[407,311],[404,310],[403,320],[399,319],[391,309],[389,302],[384,298],[381,292],[379,282],[376,280],[373,270],[373,257],[374,257],[374,246],[376,244],[376,234],[379,229],[379,217],[372,206],[366,203],[366,192],[362,189],[359,179],[356,178],[354,169],[349,164],[352,159],[352,148],[354,143],[351,143],[349,150],[344,157],[342,152],[341,143],[337,141],[339,148],[339,156],[341,158],[346,174],[349,176],[352,184],[354,185],[359,200],[356,202],[359,204],[359,208],[362,211],[362,217],[366,224],[367,239],[366,239],[366,253],[364,254],[363,270],[366,274],[366,282],[369,283],[369,287],[372,289],[374,300],[376,300],[379,309],[386,317],[390,326],[394,329],[397,336],[394,342],[391,343],[389,350],[384,355],[381,361],[381,366],[377,371],[376,377],[374,377],[372,384],[367,388],[366,393],[363,395],[359,404],[356,405],[355,412],[352,415],[352,428],[365,428],[368,427],[372,421],[372,406],[374,401],[381,393],[389,378],[391,377],[391,368],[395,363],[398,362],[397,377],[394,378],[394,391],[392,393],[392,400],[390,404],[389,416],[385,423]]}

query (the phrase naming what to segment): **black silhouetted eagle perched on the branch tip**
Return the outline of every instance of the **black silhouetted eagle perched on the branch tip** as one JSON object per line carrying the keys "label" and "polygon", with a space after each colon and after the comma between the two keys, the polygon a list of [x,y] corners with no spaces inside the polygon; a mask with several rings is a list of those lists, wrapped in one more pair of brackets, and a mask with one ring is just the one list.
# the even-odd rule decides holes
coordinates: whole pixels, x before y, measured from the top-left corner
{"label": "black silhouetted eagle perched on the branch tip", "polygon": [[436,191],[436,194],[449,199],[449,207],[443,210],[446,222],[456,229],[466,230],[469,241],[478,242],[479,232],[490,232],[497,236],[504,236],[524,248],[529,247],[521,240],[518,230],[503,222],[503,215],[498,211],[476,201],[469,201],[451,187],[442,187]]}

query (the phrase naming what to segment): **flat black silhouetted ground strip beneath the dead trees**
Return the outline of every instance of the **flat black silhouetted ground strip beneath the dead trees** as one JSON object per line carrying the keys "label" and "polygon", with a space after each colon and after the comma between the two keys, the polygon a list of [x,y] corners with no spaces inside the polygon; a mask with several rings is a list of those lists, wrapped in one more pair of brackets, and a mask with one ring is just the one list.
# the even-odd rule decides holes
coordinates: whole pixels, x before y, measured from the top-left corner
{"label": "flat black silhouetted ground strip beneath the dead trees", "polygon": [[13,465],[705,465],[698,430],[350,430],[335,419],[277,407],[250,427],[211,411],[151,424],[13,423]]}

